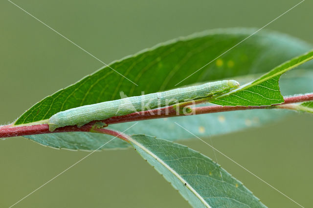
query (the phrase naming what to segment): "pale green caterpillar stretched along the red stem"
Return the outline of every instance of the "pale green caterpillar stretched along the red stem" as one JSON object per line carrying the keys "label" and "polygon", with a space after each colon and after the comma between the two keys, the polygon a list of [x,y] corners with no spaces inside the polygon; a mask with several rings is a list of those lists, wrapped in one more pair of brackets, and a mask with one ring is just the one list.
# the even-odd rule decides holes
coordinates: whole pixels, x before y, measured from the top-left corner
{"label": "pale green caterpillar stretched along the red stem", "polygon": [[238,86],[239,83],[237,81],[223,80],[71,108],[51,116],[48,120],[49,130],[52,132],[56,128],[67,125],[82,126],[91,121],[105,120],[113,116],[127,115],[137,111],[169,106],[190,100],[213,98]]}

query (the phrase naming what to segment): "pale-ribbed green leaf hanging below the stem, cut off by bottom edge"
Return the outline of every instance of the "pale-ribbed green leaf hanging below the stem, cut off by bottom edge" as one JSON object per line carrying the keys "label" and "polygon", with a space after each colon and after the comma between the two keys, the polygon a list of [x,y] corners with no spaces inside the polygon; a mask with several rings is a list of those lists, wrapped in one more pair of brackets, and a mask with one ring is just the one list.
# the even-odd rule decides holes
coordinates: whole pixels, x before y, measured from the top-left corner
{"label": "pale-ribbed green leaf hanging below the stem, cut off by bottom edge", "polygon": [[266,207],[220,165],[187,146],[145,135],[134,135],[130,141],[195,208]]}

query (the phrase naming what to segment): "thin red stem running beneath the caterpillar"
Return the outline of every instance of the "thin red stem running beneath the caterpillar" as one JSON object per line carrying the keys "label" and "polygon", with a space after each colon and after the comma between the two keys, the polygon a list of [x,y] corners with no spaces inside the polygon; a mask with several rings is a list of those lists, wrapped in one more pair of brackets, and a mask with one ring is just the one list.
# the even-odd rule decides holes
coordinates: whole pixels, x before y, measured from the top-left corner
{"label": "thin red stem running beneath the caterpillar", "polygon": [[[312,101],[313,94],[299,95],[295,97],[289,97],[284,99],[285,102],[282,104],[291,104],[299,103],[305,101]],[[248,109],[263,109],[263,108],[272,108],[277,105],[272,106],[221,106],[221,105],[212,105],[212,106],[203,106],[203,107],[194,107],[192,109],[192,115],[194,114],[204,114],[204,113],[216,113],[216,112],[225,112],[233,110],[248,110]],[[132,121],[142,121],[148,119],[157,119],[157,118],[167,118],[175,116],[186,116],[184,114],[177,114],[177,111],[173,106],[167,106],[162,108],[157,108],[153,110],[135,112],[123,116],[115,116],[101,122],[109,124],[125,123]],[[47,124],[42,125],[28,125],[28,126],[13,126],[13,125],[4,125],[0,126],[0,138],[3,137],[16,137],[16,136],[25,136],[33,134],[47,134],[47,133],[58,133],[58,132],[74,132],[74,131],[85,131],[85,132],[99,132],[110,134],[112,136],[119,137],[125,141],[128,141],[125,135],[120,134],[119,132],[110,130],[110,129],[92,129],[93,125],[97,121],[92,121],[89,124],[83,125],[81,127],[74,126],[65,126],[55,129],[53,132],[49,131],[49,126]]]}

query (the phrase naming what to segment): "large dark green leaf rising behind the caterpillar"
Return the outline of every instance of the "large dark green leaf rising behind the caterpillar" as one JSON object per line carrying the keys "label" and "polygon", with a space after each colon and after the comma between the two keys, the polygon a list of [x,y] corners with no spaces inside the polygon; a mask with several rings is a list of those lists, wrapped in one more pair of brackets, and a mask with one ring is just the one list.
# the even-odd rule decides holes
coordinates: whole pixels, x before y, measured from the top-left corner
{"label": "large dark green leaf rising behind the caterpillar", "polygon": [[[119,99],[175,88],[197,69],[221,55],[256,29],[218,29],[175,39],[112,62],[110,67],[139,86],[104,67],[68,86],[27,110],[15,125],[45,123],[53,114],[81,105]],[[228,77],[266,72],[310,46],[278,33],[260,31],[208,64],[181,84],[194,84]],[[157,79],[156,79],[157,78]]]}

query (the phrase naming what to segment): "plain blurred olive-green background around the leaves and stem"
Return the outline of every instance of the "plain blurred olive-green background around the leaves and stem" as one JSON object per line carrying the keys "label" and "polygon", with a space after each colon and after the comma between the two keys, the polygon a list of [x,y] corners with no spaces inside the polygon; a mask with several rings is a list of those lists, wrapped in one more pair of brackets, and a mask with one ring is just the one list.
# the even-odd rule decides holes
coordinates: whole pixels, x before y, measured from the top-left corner
{"label": "plain blurred olive-green background around the leaves and stem", "polygon": [[[159,42],[212,28],[262,27],[299,0],[14,0],[27,12],[109,63]],[[313,43],[313,2],[267,26]],[[0,2],[0,123],[13,122],[45,96],[103,64],[21,9]],[[208,60],[209,61],[209,60]],[[303,205],[312,207],[313,117],[213,137],[214,146]],[[140,132],[138,132],[140,133]],[[207,140],[209,141],[209,140]],[[183,142],[214,158],[199,140]],[[9,207],[88,152],[56,150],[22,137],[0,141],[0,207]],[[268,207],[297,207],[244,169],[218,162]],[[133,150],[96,152],[15,207],[188,208]]]}

